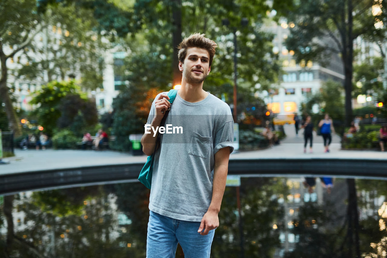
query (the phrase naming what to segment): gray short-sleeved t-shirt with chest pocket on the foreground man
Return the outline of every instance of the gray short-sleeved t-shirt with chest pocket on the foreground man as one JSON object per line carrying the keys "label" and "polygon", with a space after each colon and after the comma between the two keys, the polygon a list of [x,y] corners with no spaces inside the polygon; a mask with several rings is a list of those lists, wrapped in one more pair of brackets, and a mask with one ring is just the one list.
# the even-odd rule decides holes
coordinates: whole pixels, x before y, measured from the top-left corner
{"label": "gray short-sleeved t-shirt with chest pocket on the foreground man", "polygon": [[[153,101],[147,124],[151,124],[154,114]],[[176,94],[165,124],[181,126],[182,130],[161,134],[149,210],[178,220],[200,222],[212,199],[214,155],[221,148],[234,150],[231,110],[212,94],[196,103]]]}

